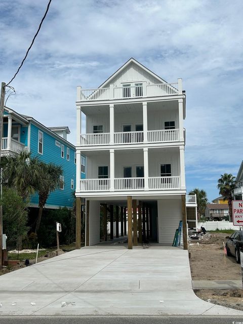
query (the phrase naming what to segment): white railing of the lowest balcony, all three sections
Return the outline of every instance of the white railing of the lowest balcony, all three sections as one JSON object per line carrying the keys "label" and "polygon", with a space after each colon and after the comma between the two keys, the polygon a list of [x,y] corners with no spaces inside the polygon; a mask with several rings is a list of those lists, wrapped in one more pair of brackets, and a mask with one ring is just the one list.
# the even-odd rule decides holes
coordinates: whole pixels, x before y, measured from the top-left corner
{"label": "white railing of the lowest balcony, all three sections", "polygon": [[[145,178],[115,178],[114,191],[144,191]],[[178,190],[181,189],[180,176],[149,177],[148,190]],[[110,179],[82,179],[81,192],[103,192],[110,190]],[[113,191],[113,190],[112,190]]]}

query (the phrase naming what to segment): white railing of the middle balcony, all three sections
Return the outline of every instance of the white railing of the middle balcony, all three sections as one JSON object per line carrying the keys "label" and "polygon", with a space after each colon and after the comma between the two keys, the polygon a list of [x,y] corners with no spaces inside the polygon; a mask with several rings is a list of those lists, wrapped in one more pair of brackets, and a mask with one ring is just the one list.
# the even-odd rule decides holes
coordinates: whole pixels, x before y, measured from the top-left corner
{"label": "white railing of the middle balcony, all three sections", "polygon": [[[179,141],[179,129],[148,131],[147,143],[169,143]],[[144,143],[144,132],[118,132],[114,133],[114,144],[139,144]],[[110,133],[81,134],[82,146],[110,145]]]}

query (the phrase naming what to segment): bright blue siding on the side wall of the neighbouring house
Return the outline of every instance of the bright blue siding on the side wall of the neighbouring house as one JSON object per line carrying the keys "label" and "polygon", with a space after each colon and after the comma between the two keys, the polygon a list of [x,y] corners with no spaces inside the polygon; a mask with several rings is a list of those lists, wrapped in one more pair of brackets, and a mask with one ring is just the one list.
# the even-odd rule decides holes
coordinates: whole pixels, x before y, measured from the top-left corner
{"label": "bright blue siding on the side wall of the neighbouring house", "polygon": [[[38,131],[43,132],[43,154],[38,153]],[[73,191],[76,188],[76,165],[74,164],[75,149],[71,145],[67,145],[62,141],[62,138],[57,140],[56,137],[51,136],[45,132],[44,129],[38,128],[31,123],[30,130],[30,150],[33,155],[37,155],[45,163],[54,163],[62,166],[64,176],[64,190],[57,189],[50,193],[46,206],[51,207],[72,207]],[[61,157],[61,147],[56,145],[56,140],[64,144],[64,158]],[[67,160],[67,146],[70,149],[70,157]],[[83,175],[84,177],[84,175]],[[71,179],[73,179],[73,189],[71,189]],[[38,204],[38,195],[31,196],[31,204]]]}

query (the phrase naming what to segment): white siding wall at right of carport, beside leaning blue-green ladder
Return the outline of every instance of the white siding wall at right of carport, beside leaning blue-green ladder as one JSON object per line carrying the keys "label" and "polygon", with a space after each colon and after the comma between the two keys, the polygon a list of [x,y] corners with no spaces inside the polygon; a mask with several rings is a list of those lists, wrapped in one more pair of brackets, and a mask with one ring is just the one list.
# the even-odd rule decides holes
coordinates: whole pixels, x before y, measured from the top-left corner
{"label": "white siding wall at right of carport, beside leaning blue-green ladder", "polygon": [[158,199],[158,242],[172,246],[175,231],[182,220],[181,198]]}

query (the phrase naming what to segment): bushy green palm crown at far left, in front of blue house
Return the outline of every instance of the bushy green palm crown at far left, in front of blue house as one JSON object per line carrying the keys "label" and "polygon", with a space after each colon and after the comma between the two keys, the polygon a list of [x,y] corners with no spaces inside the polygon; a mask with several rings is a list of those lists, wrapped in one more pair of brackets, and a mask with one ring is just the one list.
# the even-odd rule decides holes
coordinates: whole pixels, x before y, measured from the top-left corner
{"label": "bushy green palm crown at far left, in front of blue house", "polygon": [[36,191],[42,174],[39,158],[23,151],[6,156],[1,164],[7,186],[14,187],[24,200],[28,199]]}

